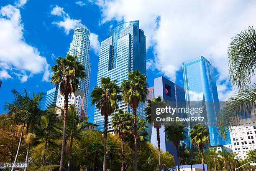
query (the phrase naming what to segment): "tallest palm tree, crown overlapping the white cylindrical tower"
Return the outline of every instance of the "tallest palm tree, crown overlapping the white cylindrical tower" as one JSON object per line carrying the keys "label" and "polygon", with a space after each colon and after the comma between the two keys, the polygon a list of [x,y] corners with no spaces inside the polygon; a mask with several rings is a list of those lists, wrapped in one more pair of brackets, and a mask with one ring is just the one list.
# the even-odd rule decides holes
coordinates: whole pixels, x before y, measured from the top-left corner
{"label": "tallest palm tree, crown overlapping the white cylindrical tower", "polygon": [[64,153],[66,146],[66,122],[68,111],[69,94],[74,93],[78,89],[79,79],[85,77],[84,65],[77,61],[77,56],[67,54],[65,58],[59,57],[56,65],[52,66],[54,74],[51,77],[51,83],[59,87],[60,94],[64,96],[64,115],[63,115],[63,134],[61,145],[61,159],[59,171],[63,170]]}

